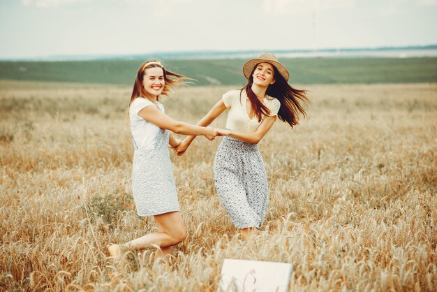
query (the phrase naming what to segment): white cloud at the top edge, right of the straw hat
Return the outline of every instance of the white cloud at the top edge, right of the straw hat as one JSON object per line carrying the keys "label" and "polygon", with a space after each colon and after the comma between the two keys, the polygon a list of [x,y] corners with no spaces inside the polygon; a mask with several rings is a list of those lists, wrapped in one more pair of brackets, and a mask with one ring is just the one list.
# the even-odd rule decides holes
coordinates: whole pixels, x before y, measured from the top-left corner
{"label": "white cloud at the top edge, right of the straw hat", "polygon": [[285,15],[288,13],[353,7],[355,6],[355,0],[263,0],[262,6],[266,13]]}

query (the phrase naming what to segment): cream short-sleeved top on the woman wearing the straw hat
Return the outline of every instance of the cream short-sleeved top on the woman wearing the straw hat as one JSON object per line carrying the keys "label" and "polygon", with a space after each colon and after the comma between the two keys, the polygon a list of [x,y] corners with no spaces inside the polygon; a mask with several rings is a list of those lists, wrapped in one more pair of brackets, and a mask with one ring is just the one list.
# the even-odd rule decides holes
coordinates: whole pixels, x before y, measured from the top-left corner
{"label": "cream short-sleeved top on the woman wearing the straw hat", "polygon": [[[239,89],[230,90],[223,94],[223,103],[225,103],[226,108],[229,109],[226,129],[245,133],[255,132],[256,129],[258,129],[264,117],[262,117],[261,122],[258,122],[256,116],[250,119],[246,111],[246,99],[246,90],[241,92],[241,98]],[[262,103],[270,110],[269,116],[278,115],[279,108],[281,107],[279,100],[266,95]]]}

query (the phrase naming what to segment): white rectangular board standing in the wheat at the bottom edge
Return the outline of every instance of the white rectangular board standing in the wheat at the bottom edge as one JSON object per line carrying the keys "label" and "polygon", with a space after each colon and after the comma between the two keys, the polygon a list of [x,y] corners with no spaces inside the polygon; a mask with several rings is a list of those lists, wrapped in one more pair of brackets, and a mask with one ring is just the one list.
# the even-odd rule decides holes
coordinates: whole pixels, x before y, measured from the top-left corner
{"label": "white rectangular board standing in the wheat at the bottom edge", "polygon": [[217,291],[286,291],[291,263],[225,258]]}

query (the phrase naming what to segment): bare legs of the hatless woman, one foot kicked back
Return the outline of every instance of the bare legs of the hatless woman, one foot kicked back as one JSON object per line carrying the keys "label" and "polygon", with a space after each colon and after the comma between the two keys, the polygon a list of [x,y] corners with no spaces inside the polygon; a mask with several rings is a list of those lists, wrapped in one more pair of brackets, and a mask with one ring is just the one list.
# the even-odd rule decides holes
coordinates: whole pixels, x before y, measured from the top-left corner
{"label": "bare legs of the hatless woman, one foot kicked back", "polygon": [[[165,255],[169,251],[171,252],[173,245],[185,240],[184,219],[179,211],[155,215],[154,219],[159,232],[149,233],[124,244],[112,244],[108,247],[111,256],[119,256],[123,248],[145,249],[151,247],[151,244],[157,244],[161,247],[162,254]],[[166,249],[167,247],[170,249]]]}

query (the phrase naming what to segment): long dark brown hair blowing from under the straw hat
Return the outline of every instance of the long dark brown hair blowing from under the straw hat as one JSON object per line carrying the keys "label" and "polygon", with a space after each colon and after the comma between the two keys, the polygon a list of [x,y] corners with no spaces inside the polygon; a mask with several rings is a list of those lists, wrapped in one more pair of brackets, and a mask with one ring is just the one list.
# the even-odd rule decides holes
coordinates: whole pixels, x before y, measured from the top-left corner
{"label": "long dark brown hair blowing from under the straw hat", "polygon": [[[258,66],[258,65],[257,65]],[[272,65],[273,66],[273,65]],[[251,101],[252,112],[255,112],[256,117],[258,118],[258,122],[261,122],[263,115],[269,115],[270,110],[267,106],[259,100],[256,94],[252,90],[253,85],[253,72],[255,71],[256,66],[253,68],[253,71],[247,80],[246,86],[240,89],[240,96],[243,90],[246,91],[247,97],[249,101]],[[288,84],[287,80],[283,78],[281,73],[279,73],[278,69],[274,68],[273,78],[275,82],[269,87],[267,87],[267,91],[265,94],[268,96],[272,96],[277,98],[281,103],[281,108],[279,108],[278,117],[282,122],[286,122],[290,124],[291,127],[299,124],[299,112],[306,117],[306,112],[304,107],[300,104],[302,101],[305,103],[310,103],[308,97],[306,97],[305,89],[295,89],[291,85]],[[241,99],[241,98],[240,98]]]}

